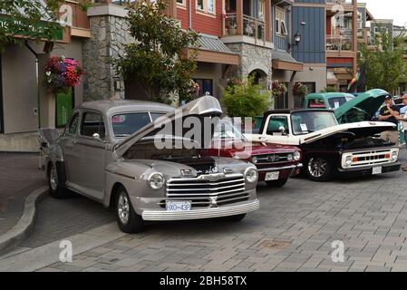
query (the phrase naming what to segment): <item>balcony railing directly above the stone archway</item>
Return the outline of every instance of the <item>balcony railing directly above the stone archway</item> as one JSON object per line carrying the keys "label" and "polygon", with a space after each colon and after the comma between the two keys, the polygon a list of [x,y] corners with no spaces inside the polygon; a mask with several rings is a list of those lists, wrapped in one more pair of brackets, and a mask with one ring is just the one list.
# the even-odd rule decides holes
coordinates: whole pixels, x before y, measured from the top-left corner
{"label": "balcony railing directly above the stone archway", "polygon": [[[236,35],[237,34],[237,14],[227,13],[225,15],[224,24],[224,34],[226,35]],[[256,40],[265,41],[265,22],[251,17],[248,15],[243,15],[243,31],[242,34],[248,37],[255,38]]]}

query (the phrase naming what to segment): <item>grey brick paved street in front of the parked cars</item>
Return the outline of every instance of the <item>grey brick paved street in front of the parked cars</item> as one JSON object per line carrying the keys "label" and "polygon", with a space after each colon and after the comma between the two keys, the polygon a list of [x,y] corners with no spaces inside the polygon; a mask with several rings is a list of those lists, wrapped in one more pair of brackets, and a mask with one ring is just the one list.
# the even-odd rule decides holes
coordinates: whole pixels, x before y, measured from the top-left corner
{"label": "grey brick paved street in front of the parked cars", "polygon": [[[122,235],[112,223],[86,232],[93,239],[113,237],[108,242],[101,239],[96,247],[78,252],[73,263],[55,263],[55,255],[48,266],[35,270],[407,271],[406,181],[407,173],[402,171],[323,184],[292,179],[283,189],[260,187],[261,209],[241,222],[156,223],[138,235]],[[79,206],[82,201],[83,206]],[[22,254],[0,259],[0,268],[24,255],[34,255],[31,247],[73,235],[74,226],[63,230],[70,223],[70,212],[77,211],[72,225],[82,219],[77,227],[93,220],[82,230],[98,227],[102,224],[100,217],[105,222],[112,218],[111,211],[82,198],[44,202],[48,203],[44,208],[67,210],[56,219],[61,227],[56,226],[58,222],[46,224],[40,218],[37,226],[42,228],[34,229],[24,243],[27,248],[21,249]],[[72,208],[74,204],[77,208]],[[47,234],[47,230],[53,234]],[[75,252],[75,245],[80,247],[81,243],[79,236],[73,240]],[[331,259],[334,240],[344,242],[344,263]]]}

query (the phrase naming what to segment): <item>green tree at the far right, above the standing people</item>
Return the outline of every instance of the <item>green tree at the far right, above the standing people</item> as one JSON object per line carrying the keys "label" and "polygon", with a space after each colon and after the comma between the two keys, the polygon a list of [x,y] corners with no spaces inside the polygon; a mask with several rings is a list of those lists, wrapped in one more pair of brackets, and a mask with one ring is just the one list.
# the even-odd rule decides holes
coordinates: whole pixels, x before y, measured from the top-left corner
{"label": "green tree at the far right, above the standing people", "polygon": [[366,89],[380,88],[394,92],[406,77],[407,62],[403,59],[402,37],[391,34],[376,36],[374,49],[363,45],[358,57],[359,67],[366,66]]}

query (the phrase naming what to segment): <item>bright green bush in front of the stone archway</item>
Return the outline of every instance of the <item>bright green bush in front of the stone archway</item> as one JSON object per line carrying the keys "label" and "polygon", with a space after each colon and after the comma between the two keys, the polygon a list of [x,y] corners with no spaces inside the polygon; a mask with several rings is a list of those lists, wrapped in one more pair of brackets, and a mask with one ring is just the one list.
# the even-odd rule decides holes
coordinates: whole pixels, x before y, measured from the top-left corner
{"label": "bright green bush in front of the stone archway", "polygon": [[226,108],[229,117],[256,117],[270,106],[270,96],[262,89],[260,84],[255,84],[254,77],[249,77],[242,82],[232,82],[223,91],[222,105]]}

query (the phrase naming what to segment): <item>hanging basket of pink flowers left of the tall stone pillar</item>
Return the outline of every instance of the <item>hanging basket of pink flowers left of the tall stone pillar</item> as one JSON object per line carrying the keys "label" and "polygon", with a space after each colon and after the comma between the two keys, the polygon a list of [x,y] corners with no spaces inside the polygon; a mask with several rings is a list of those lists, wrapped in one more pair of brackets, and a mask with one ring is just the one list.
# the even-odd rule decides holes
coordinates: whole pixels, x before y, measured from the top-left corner
{"label": "hanging basket of pink flowers left of the tall stone pillar", "polygon": [[68,92],[79,85],[82,74],[78,61],[53,55],[45,65],[45,86],[51,92]]}

